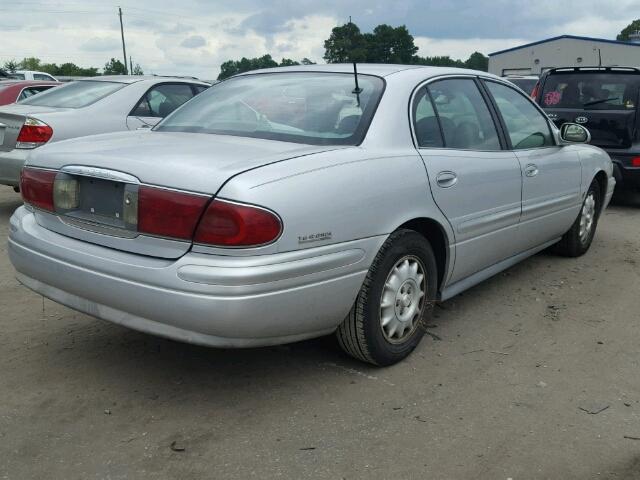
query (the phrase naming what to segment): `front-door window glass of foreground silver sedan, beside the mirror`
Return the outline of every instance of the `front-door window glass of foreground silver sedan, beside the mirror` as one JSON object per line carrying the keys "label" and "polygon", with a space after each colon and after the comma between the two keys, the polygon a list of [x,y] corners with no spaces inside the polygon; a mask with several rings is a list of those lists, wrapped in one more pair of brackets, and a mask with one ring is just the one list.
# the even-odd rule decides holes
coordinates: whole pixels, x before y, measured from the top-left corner
{"label": "front-door window glass of foreground silver sedan, beside the mirror", "polygon": [[511,146],[515,150],[555,145],[551,128],[525,95],[496,82],[485,82],[502,115]]}

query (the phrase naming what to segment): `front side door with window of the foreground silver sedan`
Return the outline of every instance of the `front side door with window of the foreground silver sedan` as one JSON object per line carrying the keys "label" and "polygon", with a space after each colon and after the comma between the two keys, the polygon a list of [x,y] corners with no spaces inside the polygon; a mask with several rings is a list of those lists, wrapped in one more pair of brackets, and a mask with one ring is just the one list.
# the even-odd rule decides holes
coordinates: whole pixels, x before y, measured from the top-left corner
{"label": "front side door with window of the foreground silver sedan", "polygon": [[522,166],[520,250],[564,234],[581,204],[582,169],[577,149],[556,144],[545,115],[516,88],[485,80]]}

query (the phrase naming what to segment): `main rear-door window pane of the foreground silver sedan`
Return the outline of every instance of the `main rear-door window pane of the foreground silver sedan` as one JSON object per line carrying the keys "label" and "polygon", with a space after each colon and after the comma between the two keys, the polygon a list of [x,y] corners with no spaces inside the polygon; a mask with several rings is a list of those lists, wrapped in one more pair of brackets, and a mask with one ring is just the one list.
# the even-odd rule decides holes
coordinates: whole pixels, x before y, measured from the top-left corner
{"label": "main rear-door window pane of the foreground silver sedan", "polygon": [[496,126],[472,79],[448,79],[428,86],[447,148],[500,150]]}

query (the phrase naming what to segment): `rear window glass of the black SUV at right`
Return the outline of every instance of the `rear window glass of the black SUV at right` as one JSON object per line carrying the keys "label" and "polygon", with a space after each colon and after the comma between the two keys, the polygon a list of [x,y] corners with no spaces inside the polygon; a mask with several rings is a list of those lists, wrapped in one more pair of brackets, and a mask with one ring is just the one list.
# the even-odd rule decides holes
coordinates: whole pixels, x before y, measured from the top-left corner
{"label": "rear window glass of the black SUV at right", "polygon": [[550,74],[544,83],[543,108],[633,110],[640,74],[571,72]]}

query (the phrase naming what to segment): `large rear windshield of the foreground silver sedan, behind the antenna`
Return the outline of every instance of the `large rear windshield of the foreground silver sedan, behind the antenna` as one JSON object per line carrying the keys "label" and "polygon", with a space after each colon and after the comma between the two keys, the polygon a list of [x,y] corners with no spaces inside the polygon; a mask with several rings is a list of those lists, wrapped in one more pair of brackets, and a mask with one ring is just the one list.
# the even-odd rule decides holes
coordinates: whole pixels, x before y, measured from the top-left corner
{"label": "large rear windshield of the foreground silver sedan, behind the antenna", "polygon": [[384,89],[381,78],[324,72],[264,73],[209,88],[154,130],[358,145]]}

